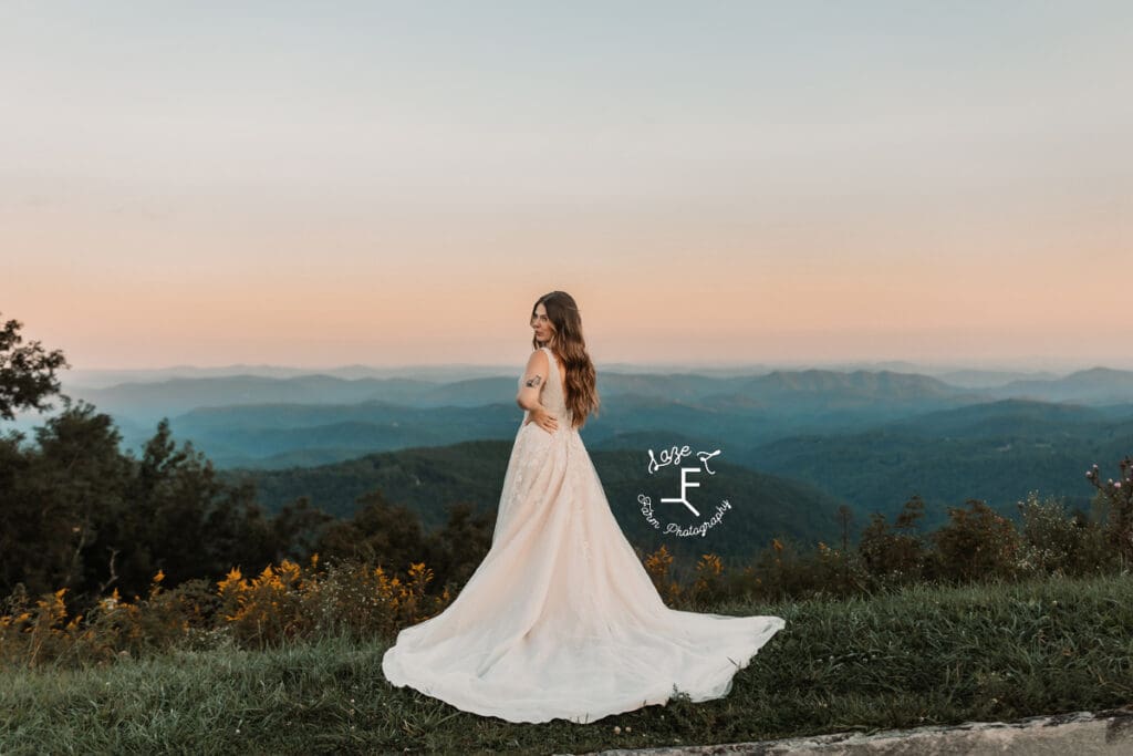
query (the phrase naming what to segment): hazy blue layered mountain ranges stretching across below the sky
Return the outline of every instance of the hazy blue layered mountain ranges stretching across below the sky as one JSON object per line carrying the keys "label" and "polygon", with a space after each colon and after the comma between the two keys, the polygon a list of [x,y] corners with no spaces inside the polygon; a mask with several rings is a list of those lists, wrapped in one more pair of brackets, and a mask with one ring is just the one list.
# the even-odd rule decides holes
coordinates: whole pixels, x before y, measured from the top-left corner
{"label": "hazy blue layered mountain ranges stretching across below the sky", "polygon": [[[687,442],[746,468],[734,470],[743,493],[735,512],[750,502],[764,512],[763,529],[748,533],[729,517],[741,535],[727,537],[763,542],[830,537],[836,525],[826,518],[838,503],[853,511],[857,532],[869,512],[892,516],[914,494],[927,503],[926,527],[968,499],[1014,516],[1030,491],[1084,509],[1093,493],[1087,467],[1133,451],[1133,373],[1020,379],[969,371],[953,379],[964,385],[892,371],[604,372],[602,415],[582,435],[627,530],[642,518],[636,492],[617,487],[625,479],[617,470],[639,469],[648,449]],[[155,418],[172,417],[177,439],[252,476],[270,507],[307,495],[348,515],[377,486],[391,501],[412,503],[429,526],[452,496],[478,508],[497,503],[520,418],[513,392],[513,376],[244,375],[71,389],[110,411],[130,445],[152,434]],[[426,447],[441,449],[431,457]],[[765,492],[789,489],[789,500]]]}

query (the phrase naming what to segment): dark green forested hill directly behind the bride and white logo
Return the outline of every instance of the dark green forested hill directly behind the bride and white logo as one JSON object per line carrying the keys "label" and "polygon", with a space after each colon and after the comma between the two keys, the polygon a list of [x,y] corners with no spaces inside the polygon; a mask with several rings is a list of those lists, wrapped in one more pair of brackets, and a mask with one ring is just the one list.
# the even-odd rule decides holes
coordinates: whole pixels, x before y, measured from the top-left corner
{"label": "dark green forested hill directly behind the bride and white logo", "polygon": [[[403,449],[307,468],[286,470],[227,470],[230,482],[250,482],[259,500],[278,510],[299,496],[339,517],[353,513],[357,499],[380,489],[385,498],[417,512],[426,528],[441,526],[445,506],[458,501],[474,504],[478,511],[494,511],[500,503],[503,477],[511,453],[506,441],[472,441],[444,447]],[[647,455],[628,450],[591,450],[611,510],[630,542],[651,551],[662,543],[670,551],[696,559],[714,551],[730,560],[744,559],[767,545],[773,537],[795,538],[804,543],[832,541],[837,535],[836,511],[842,503],[818,489],[780,476],[756,473],[718,460],[712,484],[696,494],[700,501],[715,502],[714,495],[727,498],[727,510],[718,526],[704,536],[678,537],[655,530],[640,512],[638,494],[653,492],[655,501],[665,495],[664,484],[646,470]],[[670,483],[673,483],[670,481]],[[657,512],[665,507],[656,506]],[[707,511],[707,509],[706,509]],[[695,520],[681,510],[667,512],[682,526]],[[683,519],[682,519],[683,518]],[[688,520],[688,521],[685,521]]]}

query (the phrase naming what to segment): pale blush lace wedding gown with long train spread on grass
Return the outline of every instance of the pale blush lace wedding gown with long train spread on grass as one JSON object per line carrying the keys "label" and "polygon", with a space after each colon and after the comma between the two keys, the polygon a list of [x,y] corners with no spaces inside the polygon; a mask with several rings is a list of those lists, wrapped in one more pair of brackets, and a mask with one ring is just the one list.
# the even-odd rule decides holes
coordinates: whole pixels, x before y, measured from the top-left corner
{"label": "pale blush lace wedding gown with long train spread on grass", "polygon": [[784,621],[665,605],[610,510],[543,349],[542,402],[559,427],[548,433],[523,414],[491,550],[442,613],[398,635],[382,671],[394,686],[509,722],[593,722],[676,691],[726,696]]}

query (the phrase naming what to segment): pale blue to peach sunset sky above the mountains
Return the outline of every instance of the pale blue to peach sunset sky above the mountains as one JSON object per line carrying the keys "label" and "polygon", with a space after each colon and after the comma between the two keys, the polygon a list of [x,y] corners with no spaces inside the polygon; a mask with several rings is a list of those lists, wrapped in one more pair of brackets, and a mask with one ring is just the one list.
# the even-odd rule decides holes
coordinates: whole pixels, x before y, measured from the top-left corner
{"label": "pale blue to peach sunset sky above the mountains", "polygon": [[[235,6],[239,7],[235,7]],[[1133,368],[1128,2],[0,5],[0,317],[76,368]]]}

